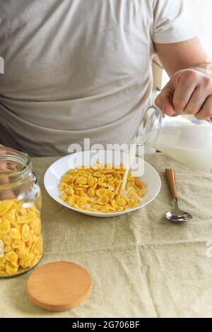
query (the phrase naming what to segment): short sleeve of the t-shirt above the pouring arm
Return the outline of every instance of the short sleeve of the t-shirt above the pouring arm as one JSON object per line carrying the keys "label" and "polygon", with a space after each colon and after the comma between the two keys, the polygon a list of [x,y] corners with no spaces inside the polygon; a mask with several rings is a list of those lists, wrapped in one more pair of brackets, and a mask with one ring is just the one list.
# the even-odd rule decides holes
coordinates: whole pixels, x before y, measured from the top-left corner
{"label": "short sleeve of the t-shirt above the pouring arm", "polygon": [[153,42],[169,44],[196,37],[185,18],[182,0],[153,0]]}

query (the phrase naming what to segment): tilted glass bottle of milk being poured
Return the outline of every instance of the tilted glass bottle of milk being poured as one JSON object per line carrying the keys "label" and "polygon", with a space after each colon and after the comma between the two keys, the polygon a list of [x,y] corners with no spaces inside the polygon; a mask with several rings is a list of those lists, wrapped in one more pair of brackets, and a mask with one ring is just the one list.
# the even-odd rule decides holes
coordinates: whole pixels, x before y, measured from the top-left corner
{"label": "tilted glass bottle of milk being poured", "polygon": [[146,112],[136,145],[155,148],[192,170],[212,169],[212,123],[194,115],[164,115],[155,106]]}

